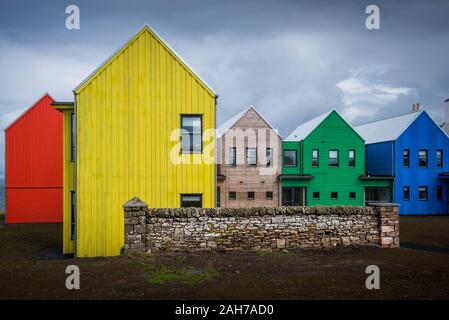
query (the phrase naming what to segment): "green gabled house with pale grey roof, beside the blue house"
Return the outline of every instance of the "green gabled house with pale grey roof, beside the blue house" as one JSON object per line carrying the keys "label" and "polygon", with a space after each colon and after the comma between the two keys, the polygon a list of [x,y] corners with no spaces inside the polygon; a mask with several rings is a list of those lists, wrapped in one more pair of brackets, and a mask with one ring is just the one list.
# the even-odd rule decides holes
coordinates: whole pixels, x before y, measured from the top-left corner
{"label": "green gabled house with pale grey roof, beside the blue house", "polygon": [[393,177],[365,175],[365,142],[332,110],[282,142],[282,205],[354,205],[389,201]]}

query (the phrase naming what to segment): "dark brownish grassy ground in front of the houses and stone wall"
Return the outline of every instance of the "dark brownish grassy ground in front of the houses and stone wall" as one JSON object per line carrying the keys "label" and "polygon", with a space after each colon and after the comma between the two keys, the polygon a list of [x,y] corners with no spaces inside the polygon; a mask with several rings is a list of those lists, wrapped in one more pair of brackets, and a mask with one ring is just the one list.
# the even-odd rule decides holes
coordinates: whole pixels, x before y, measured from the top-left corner
{"label": "dark brownish grassy ground in front of the houses and stone wall", "polygon": [[[0,299],[447,299],[449,217],[401,217],[400,249],[72,259],[61,225],[0,224]],[[81,289],[65,288],[79,266]],[[365,288],[377,265],[381,289]]]}

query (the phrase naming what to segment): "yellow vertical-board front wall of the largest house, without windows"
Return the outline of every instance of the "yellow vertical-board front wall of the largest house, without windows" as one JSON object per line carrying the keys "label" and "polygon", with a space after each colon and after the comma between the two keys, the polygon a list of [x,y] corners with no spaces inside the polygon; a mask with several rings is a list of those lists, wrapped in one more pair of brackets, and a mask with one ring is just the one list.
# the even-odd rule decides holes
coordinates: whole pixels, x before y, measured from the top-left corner
{"label": "yellow vertical-board front wall of the largest house, without windows", "polygon": [[150,32],[77,94],[77,256],[120,253],[122,205],[134,196],[179,207],[181,193],[202,193],[203,205],[214,207],[213,163],[170,162],[179,143],[170,134],[183,113],[203,114],[203,130],[214,128],[214,97]]}

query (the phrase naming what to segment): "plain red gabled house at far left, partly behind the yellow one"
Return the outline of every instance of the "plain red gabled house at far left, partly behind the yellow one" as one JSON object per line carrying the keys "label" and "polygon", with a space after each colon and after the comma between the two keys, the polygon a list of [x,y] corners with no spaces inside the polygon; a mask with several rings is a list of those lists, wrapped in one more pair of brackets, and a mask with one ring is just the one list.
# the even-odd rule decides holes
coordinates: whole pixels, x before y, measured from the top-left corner
{"label": "plain red gabled house at far left, partly behind the yellow one", "polygon": [[45,94],[5,129],[6,223],[62,221],[62,114]]}

